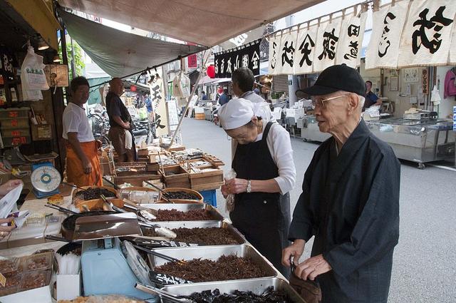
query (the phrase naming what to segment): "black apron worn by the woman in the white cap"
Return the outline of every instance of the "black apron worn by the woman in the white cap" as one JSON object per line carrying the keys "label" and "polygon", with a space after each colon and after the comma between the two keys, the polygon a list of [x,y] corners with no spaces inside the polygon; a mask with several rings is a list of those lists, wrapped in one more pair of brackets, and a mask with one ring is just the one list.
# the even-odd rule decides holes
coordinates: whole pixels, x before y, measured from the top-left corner
{"label": "black apron worn by the woman in the white cap", "polygon": [[[266,138],[272,123],[264,128],[263,138],[249,144],[238,144],[232,168],[237,178],[246,180],[269,180],[279,176],[279,169],[269,152]],[[283,243],[286,237],[281,233],[287,220],[283,217],[279,192],[242,192],[235,195],[234,210],[229,217],[239,232],[246,237],[261,255],[286,274],[281,265]],[[288,219],[289,220],[289,219]]]}

